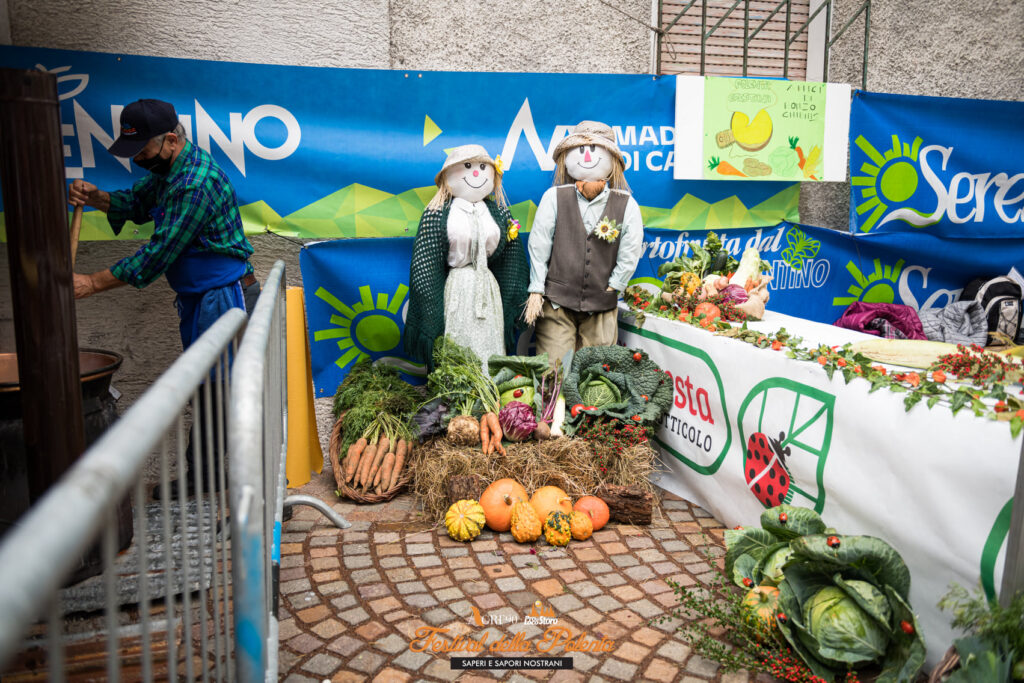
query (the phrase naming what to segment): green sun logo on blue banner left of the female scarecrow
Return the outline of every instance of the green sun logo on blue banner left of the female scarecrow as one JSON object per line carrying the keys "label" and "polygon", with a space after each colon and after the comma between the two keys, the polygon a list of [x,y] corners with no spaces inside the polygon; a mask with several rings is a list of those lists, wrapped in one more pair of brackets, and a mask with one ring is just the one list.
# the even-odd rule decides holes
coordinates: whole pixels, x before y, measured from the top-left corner
{"label": "green sun logo on blue banner left of the female scarecrow", "polygon": [[331,315],[331,324],[337,327],[315,331],[313,341],[337,339],[341,355],[334,362],[342,370],[350,362],[391,351],[401,341],[400,311],[407,294],[409,287],[398,285],[390,299],[382,292],[375,302],[370,287],[364,286],[359,302],[347,306],[321,287],[316,296],[339,314]]}

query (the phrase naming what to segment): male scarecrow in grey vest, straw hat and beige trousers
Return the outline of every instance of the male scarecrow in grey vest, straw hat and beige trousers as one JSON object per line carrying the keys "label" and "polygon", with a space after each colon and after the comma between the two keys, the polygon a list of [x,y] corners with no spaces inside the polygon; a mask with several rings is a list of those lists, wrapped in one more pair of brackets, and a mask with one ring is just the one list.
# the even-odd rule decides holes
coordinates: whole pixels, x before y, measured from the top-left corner
{"label": "male scarecrow in grey vest, straw hat and beige trousers", "polygon": [[640,206],[610,126],[581,122],[555,147],[555,181],[529,233],[529,299],[537,352],[552,364],[618,338],[615,307],[643,245]]}

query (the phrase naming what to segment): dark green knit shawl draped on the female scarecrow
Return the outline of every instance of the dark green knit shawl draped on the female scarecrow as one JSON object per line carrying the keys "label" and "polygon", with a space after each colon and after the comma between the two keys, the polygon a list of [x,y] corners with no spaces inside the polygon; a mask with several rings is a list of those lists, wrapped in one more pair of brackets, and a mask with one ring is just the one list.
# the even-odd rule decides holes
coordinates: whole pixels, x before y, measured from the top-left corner
{"label": "dark green knit shawl draped on the female scarecrow", "polygon": [[[526,303],[529,266],[522,241],[518,237],[511,242],[508,239],[511,212],[492,199],[484,202],[501,234],[495,253],[487,258],[487,267],[501,290],[505,349],[511,352],[516,330],[525,328],[520,313]],[[452,203],[447,202],[440,211],[428,209],[423,212],[409,268],[409,311],[402,341],[406,353],[429,368],[433,368],[434,340],[444,334],[444,282],[451,270],[447,265],[451,207]]]}

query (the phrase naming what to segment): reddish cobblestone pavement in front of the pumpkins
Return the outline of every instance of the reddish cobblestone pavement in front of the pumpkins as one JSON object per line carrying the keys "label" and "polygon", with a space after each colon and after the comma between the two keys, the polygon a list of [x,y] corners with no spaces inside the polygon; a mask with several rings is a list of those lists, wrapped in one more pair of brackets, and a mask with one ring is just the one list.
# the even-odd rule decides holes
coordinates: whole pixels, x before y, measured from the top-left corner
{"label": "reddish cobblestone pavement in front of the pumpkins", "polygon": [[[612,523],[568,548],[538,542],[536,554],[509,533],[485,530],[472,543],[452,541],[423,520],[409,495],[377,506],[335,502],[352,522],[344,531],[299,508],[282,537],[281,679],[746,683],[754,677],[722,674],[691,653],[676,633],[678,620],[652,621],[676,604],[667,579],[707,583],[712,567],[702,548],[711,543],[714,556],[724,553],[724,529],[708,512],[658,494],[650,526]],[[610,651],[552,649],[553,656],[571,655],[571,671],[465,672],[453,671],[450,659],[474,652],[414,647],[424,642],[426,627],[447,629],[432,643],[478,641],[484,634],[488,644],[503,637],[514,642],[521,634],[519,642],[536,646],[547,627],[527,625],[523,616],[537,601],[554,612],[562,633],[604,639]]]}

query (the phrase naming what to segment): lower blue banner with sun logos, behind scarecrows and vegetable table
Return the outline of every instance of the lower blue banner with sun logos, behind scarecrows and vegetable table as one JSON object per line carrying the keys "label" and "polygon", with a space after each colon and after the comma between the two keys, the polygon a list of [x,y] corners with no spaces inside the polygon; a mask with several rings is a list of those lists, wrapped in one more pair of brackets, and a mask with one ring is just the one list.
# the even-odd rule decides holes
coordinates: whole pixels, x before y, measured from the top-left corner
{"label": "lower blue banner with sun logos, behind scarecrows and vegetable table", "polygon": [[[659,287],[657,268],[686,253],[706,231],[645,230],[631,284]],[[768,309],[835,323],[855,301],[898,303],[916,310],[956,301],[972,279],[1006,274],[1024,262],[1024,241],[959,241],[957,249],[930,234],[856,238],[811,225],[719,231],[736,258],[754,247],[771,266]],[[317,396],[333,395],[359,358],[383,359],[409,378],[424,369],[401,353],[412,238],[336,240],[302,250],[309,348]],[[368,267],[368,264],[373,264]],[[813,342],[813,340],[809,340]],[[529,336],[517,352],[532,352]]]}

